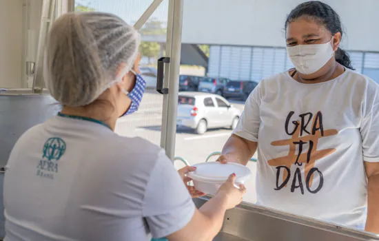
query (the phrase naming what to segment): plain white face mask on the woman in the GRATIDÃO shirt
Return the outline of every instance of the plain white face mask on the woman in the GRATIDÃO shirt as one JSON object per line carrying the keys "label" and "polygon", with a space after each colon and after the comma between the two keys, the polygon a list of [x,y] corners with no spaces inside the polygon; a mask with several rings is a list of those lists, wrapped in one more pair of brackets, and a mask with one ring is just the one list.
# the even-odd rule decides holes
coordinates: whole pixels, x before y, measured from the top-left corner
{"label": "plain white face mask on the woman in the GRATID\u00c3O shirt", "polygon": [[314,74],[334,55],[331,41],[322,44],[287,47],[287,53],[296,70],[301,74]]}

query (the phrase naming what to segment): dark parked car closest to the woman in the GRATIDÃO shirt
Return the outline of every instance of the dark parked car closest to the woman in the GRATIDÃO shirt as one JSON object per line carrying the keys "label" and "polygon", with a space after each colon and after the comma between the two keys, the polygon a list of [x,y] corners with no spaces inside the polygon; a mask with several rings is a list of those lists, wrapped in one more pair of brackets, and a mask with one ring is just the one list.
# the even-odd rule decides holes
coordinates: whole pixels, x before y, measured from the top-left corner
{"label": "dark parked car closest to the woman in the GRATID\u00c3O shirt", "polygon": [[257,85],[255,81],[229,81],[224,90],[224,97],[241,98],[246,101]]}

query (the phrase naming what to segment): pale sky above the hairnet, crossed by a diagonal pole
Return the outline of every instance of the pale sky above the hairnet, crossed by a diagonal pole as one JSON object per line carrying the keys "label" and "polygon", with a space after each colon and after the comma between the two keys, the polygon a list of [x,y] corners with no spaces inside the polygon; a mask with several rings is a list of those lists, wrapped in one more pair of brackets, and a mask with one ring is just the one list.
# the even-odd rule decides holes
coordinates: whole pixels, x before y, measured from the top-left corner
{"label": "pale sky above the hairnet, crossed by a diagonal pole", "polygon": [[[152,2],[153,0],[75,0],[75,3],[90,6],[97,11],[116,14],[130,24],[135,23]],[[163,0],[150,19],[167,23],[167,12],[168,0]]]}

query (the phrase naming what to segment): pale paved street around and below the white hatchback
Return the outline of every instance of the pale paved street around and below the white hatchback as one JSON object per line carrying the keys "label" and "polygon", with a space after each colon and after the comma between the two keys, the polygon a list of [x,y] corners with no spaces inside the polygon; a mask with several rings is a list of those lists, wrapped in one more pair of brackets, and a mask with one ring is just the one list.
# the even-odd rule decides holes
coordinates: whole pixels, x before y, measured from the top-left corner
{"label": "pale paved street around and below the white hatchback", "polygon": [[[230,101],[238,109],[243,109],[243,101]],[[163,97],[154,92],[147,92],[141,103],[139,112],[132,116],[125,116],[119,121],[116,132],[125,136],[141,136],[152,141],[156,145],[161,140]],[[232,131],[230,129],[210,129],[202,136],[194,134],[191,129],[180,127],[176,134],[176,156],[180,156],[189,162],[190,165],[203,163],[207,156],[214,151],[221,151],[227,138]],[[215,160],[212,158],[211,160]],[[175,163],[175,167],[181,168],[183,164]],[[246,184],[248,193],[245,201],[255,202],[255,163],[249,163],[253,176]]]}

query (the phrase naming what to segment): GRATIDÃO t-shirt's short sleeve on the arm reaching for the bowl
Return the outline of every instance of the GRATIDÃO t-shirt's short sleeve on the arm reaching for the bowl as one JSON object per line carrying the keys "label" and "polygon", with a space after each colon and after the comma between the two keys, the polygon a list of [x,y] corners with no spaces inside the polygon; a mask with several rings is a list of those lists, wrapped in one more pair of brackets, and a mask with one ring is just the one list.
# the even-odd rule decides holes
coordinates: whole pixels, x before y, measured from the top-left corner
{"label": "GRATID\u00c3O t-shirt's short sleeve on the arm reaching for the bowl", "polygon": [[254,88],[245,103],[245,108],[240,116],[240,121],[233,134],[246,140],[258,142],[258,132],[260,127],[260,84]]}

